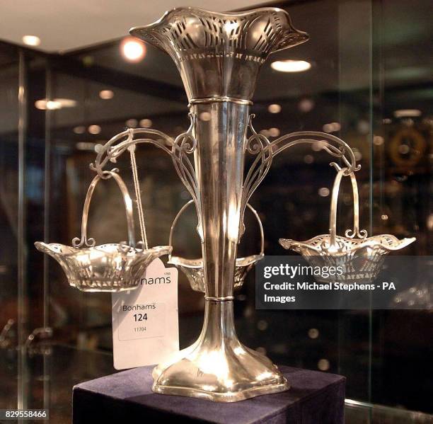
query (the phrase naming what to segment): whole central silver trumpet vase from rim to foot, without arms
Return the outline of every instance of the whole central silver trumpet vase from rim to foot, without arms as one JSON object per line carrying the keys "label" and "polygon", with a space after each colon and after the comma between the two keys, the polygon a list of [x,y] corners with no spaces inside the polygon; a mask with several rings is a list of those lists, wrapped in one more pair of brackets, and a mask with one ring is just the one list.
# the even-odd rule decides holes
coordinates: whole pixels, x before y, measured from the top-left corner
{"label": "whole central silver trumpet vase from rim to foot, without arms", "polygon": [[250,104],[267,56],[308,36],[278,8],[213,13],[178,8],[131,34],[173,58],[194,118],[195,198],[202,239],[205,316],[189,348],[154,369],[153,390],[233,402],[289,384],[264,355],[243,346],[233,323],[233,282],[241,234],[243,168]]}

